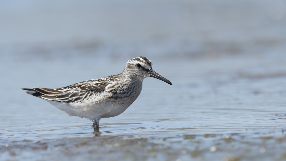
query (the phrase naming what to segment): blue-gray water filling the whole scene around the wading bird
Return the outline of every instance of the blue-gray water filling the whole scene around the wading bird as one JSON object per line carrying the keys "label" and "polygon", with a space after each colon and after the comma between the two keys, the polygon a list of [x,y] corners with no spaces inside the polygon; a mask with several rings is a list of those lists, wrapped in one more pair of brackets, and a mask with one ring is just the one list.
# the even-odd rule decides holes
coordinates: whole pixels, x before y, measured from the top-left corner
{"label": "blue-gray water filling the whole scene around the wading bird", "polygon": [[[3,2],[0,160],[284,160],[284,4]],[[99,131],[21,90],[118,74],[136,56],[173,85],[144,79]]]}

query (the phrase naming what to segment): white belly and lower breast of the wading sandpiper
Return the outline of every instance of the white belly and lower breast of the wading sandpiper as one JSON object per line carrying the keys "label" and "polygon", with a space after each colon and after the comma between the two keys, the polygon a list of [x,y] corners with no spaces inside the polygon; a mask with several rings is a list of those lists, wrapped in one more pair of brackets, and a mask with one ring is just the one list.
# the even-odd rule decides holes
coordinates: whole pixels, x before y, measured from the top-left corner
{"label": "white belly and lower breast of the wading sandpiper", "polygon": [[45,101],[50,102],[70,116],[85,117],[93,121],[99,120],[102,117],[114,117],[124,112],[139,96],[142,84],[138,86],[137,88],[133,87],[133,89],[136,90],[129,90],[125,95],[116,94],[111,97],[112,95],[110,95],[110,93],[104,92],[77,103],[61,103],[46,99]]}

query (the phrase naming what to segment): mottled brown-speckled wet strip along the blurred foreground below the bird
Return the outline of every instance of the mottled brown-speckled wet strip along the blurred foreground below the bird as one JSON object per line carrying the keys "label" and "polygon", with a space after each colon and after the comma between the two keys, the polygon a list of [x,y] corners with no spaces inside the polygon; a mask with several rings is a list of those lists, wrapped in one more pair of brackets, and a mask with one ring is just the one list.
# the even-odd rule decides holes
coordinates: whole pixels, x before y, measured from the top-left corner
{"label": "mottled brown-speckled wet strip along the blurred foreground below the bird", "polygon": [[[283,132],[282,132],[283,133]],[[0,148],[5,160],[285,160],[281,131],[184,134],[166,138],[106,135],[13,141]],[[278,135],[278,136],[277,136]]]}

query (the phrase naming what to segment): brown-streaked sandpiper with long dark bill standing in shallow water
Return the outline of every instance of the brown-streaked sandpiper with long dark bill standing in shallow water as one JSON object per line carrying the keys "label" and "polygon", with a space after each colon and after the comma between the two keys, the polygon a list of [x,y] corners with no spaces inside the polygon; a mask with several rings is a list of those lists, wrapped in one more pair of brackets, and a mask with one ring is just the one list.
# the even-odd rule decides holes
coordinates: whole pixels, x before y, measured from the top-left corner
{"label": "brown-streaked sandpiper with long dark bill standing in shallow water", "polygon": [[62,88],[33,88],[27,93],[48,101],[70,116],[85,117],[99,128],[103,117],[125,111],[139,96],[144,78],[151,76],[172,83],[152,69],[150,59],[139,56],[128,60],[123,72],[99,79],[86,80]]}

